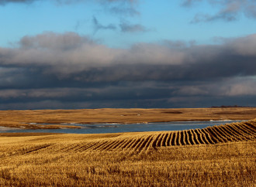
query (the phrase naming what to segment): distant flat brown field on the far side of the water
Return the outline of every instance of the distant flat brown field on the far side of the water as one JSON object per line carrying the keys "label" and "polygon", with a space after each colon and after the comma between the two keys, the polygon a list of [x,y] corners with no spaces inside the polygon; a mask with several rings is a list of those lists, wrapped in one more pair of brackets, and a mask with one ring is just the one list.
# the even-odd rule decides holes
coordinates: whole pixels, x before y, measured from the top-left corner
{"label": "distant flat brown field on the far side of the water", "polygon": [[[11,128],[79,128],[64,123],[144,123],[168,121],[250,120],[256,107],[178,109],[0,110],[0,126]],[[51,124],[51,125],[40,125]]]}

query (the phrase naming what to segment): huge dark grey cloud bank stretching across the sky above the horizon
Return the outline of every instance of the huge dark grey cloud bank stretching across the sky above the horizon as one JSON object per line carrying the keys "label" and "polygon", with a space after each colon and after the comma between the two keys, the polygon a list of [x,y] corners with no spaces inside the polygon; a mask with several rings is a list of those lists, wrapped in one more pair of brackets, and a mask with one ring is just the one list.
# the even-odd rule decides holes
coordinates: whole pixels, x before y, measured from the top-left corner
{"label": "huge dark grey cloud bank stretching across the sky above the horizon", "polygon": [[74,32],[24,36],[0,48],[0,109],[256,105],[256,34],[220,41],[112,49]]}

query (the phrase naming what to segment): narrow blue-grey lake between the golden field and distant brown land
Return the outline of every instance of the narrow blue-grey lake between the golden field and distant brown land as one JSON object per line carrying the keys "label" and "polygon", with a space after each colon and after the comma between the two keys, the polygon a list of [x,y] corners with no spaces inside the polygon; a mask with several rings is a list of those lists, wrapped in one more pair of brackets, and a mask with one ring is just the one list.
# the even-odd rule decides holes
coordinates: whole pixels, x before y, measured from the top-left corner
{"label": "narrow blue-grey lake between the golden field and distant brown land", "polygon": [[[80,129],[12,129],[0,127],[0,132],[53,132],[75,134],[102,134],[116,132],[141,132],[141,131],[180,131],[195,128],[206,128],[213,125],[227,124],[239,121],[174,121],[156,122],[148,124],[70,124],[80,126]],[[43,124],[47,125],[47,124]],[[68,125],[68,124],[66,124]]]}

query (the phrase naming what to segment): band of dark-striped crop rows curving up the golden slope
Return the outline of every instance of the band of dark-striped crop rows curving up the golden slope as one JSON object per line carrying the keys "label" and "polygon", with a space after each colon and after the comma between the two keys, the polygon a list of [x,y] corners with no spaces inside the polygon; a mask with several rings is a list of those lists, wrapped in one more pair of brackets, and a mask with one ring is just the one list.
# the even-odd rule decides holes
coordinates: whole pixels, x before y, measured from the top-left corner
{"label": "band of dark-striped crop rows curving up the golden slope", "polygon": [[251,141],[256,139],[256,122],[223,124],[203,129],[185,131],[162,131],[159,133],[119,136],[104,140],[80,141],[69,145],[47,145],[26,150],[82,152],[82,151],[147,151],[149,148],[177,145],[213,145],[232,141]]}

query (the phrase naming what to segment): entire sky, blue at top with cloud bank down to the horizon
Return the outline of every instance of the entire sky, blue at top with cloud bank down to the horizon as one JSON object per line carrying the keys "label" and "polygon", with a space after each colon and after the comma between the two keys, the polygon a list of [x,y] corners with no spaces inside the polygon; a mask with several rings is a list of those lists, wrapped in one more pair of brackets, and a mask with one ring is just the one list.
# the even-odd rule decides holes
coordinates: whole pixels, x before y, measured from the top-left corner
{"label": "entire sky, blue at top with cloud bank down to the horizon", "polygon": [[0,110],[256,106],[255,0],[0,0]]}

